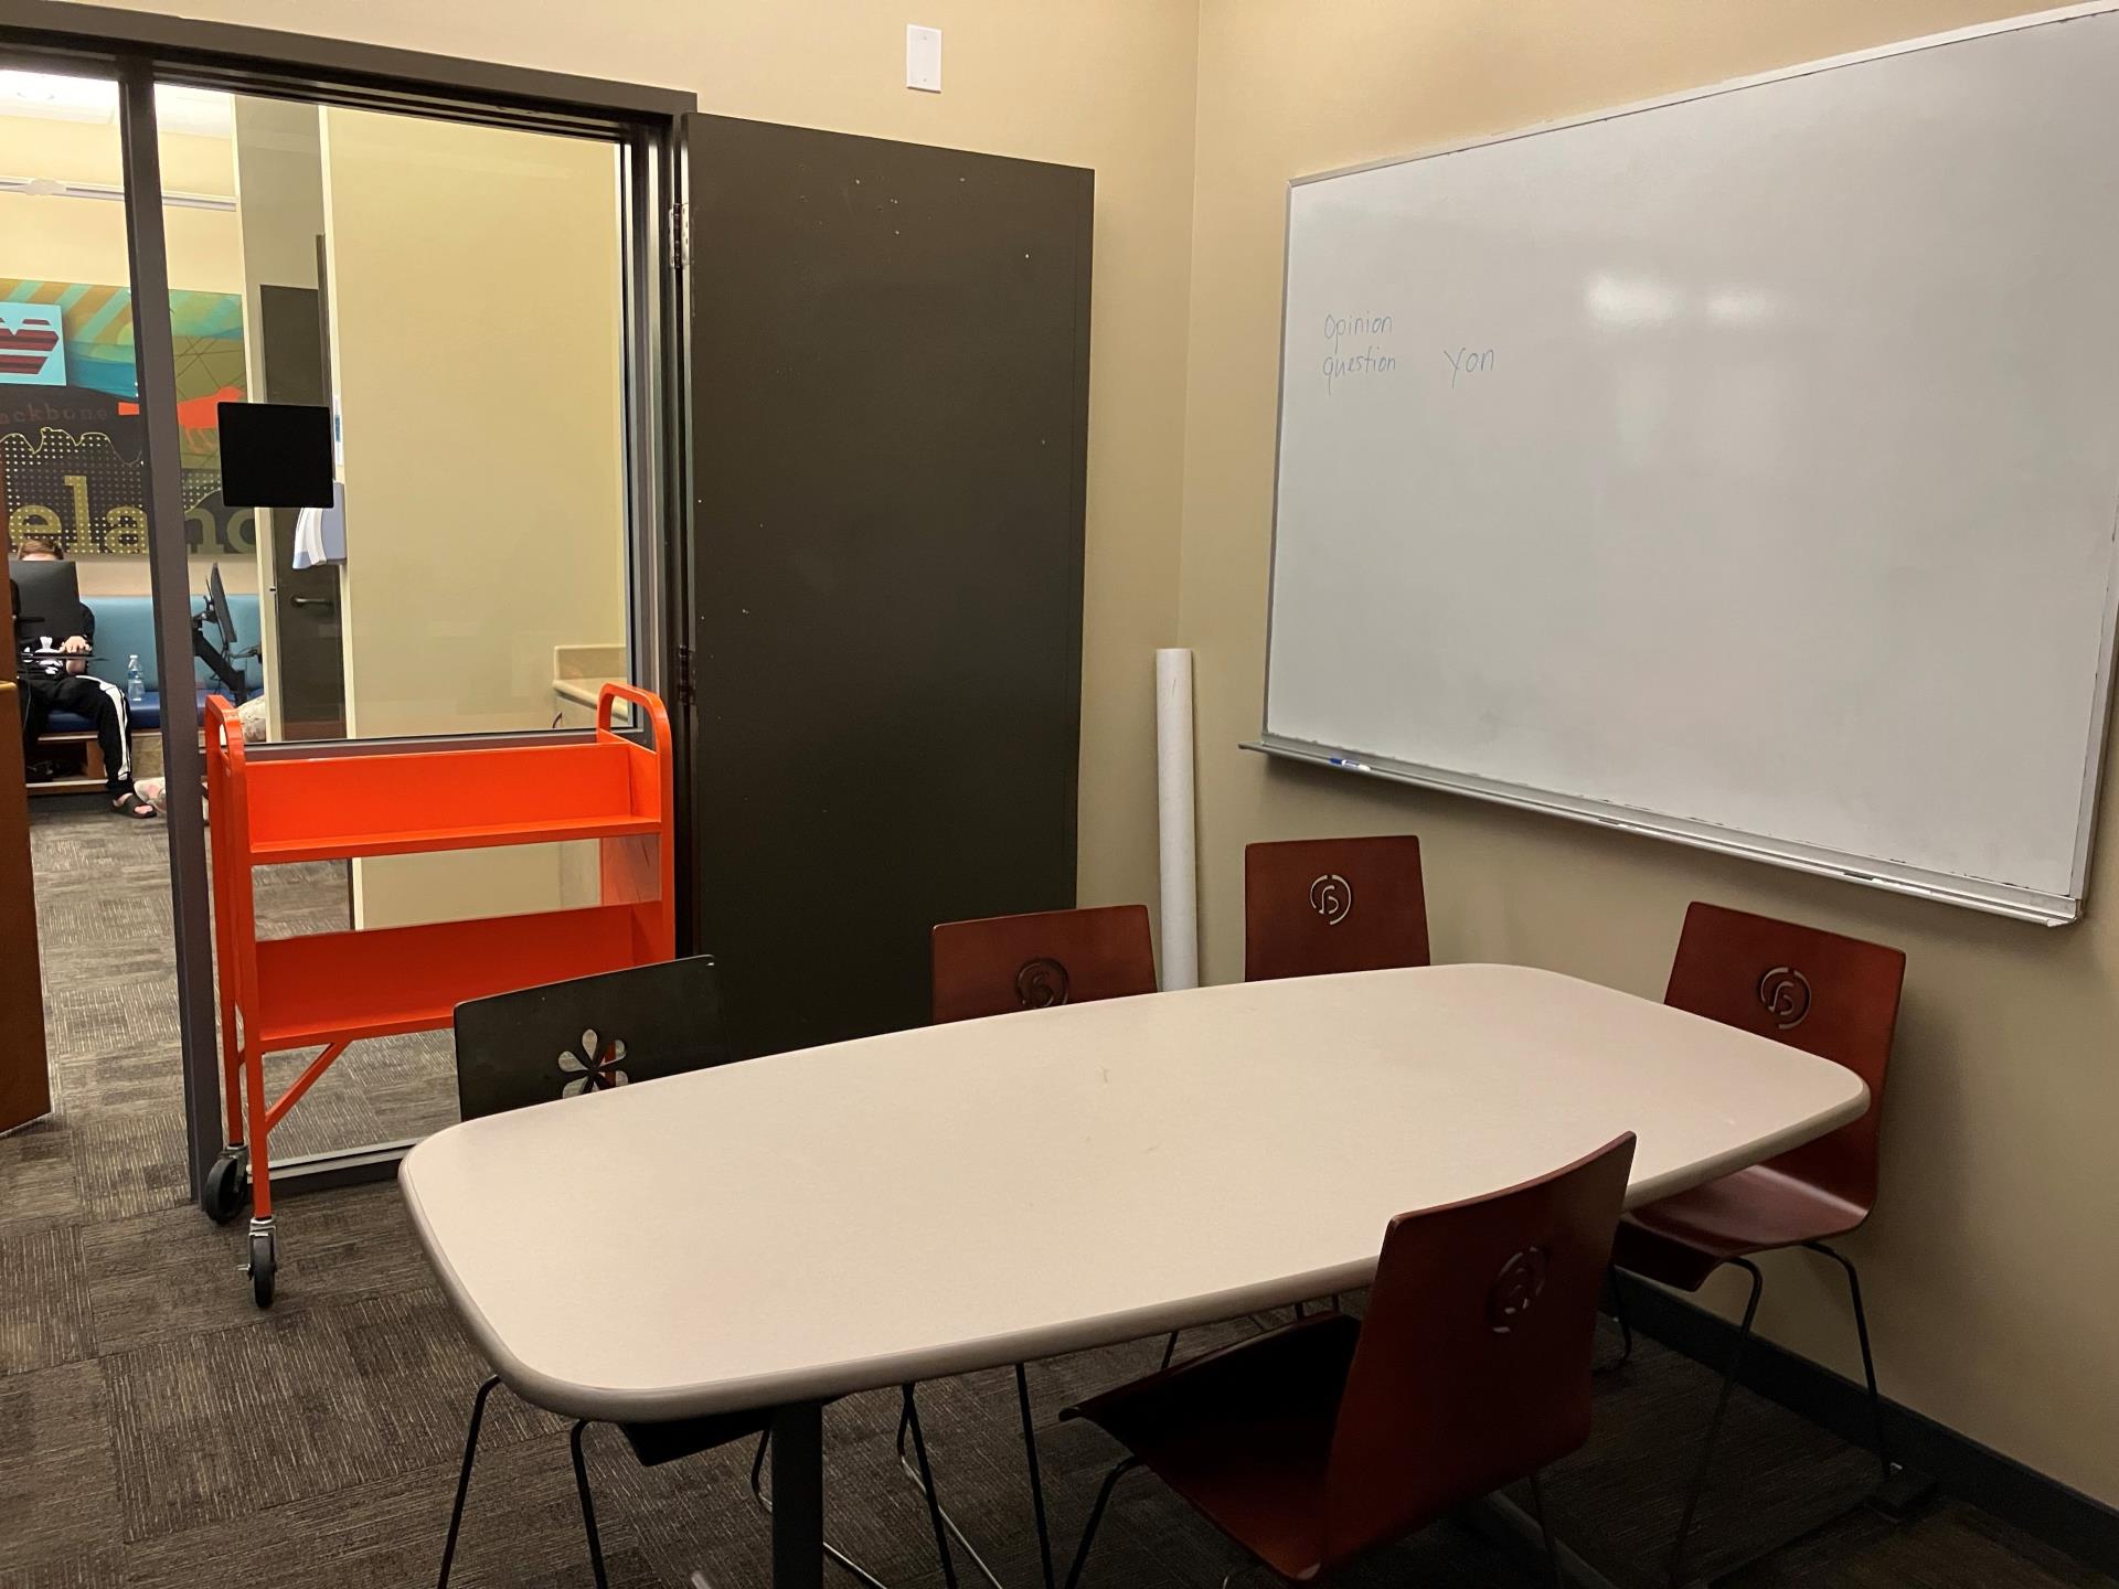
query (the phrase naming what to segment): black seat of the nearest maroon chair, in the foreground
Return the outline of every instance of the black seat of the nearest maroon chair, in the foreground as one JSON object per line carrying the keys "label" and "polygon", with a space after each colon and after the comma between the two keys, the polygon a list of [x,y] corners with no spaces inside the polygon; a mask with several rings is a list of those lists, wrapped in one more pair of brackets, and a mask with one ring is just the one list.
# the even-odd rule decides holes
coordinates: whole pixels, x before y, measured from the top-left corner
{"label": "black seat of the nearest maroon chair, in the foreground", "polygon": [[1087,1417],[1297,1583],[1324,1568],[1324,1475],[1360,1322],[1314,1314],[1108,1390]]}

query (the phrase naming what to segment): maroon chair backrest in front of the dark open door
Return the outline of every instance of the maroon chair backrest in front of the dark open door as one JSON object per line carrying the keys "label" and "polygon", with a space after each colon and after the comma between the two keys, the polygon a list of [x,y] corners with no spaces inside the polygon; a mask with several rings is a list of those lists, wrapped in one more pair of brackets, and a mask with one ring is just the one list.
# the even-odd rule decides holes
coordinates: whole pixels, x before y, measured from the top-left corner
{"label": "maroon chair backrest in front of the dark open door", "polygon": [[1146,905],[990,915],[934,928],[934,1019],[1155,992]]}

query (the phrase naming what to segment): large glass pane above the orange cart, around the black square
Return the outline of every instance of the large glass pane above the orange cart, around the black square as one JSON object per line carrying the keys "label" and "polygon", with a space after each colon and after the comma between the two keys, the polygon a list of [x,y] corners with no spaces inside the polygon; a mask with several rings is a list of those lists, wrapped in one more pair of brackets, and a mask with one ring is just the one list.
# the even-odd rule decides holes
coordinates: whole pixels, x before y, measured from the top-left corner
{"label": "large glass pane above the orange cart, around the black square", "polygon": [[[634,672],[621,146],[165,89],[172,180],[172,93],[220,102],[233,167],[233,269],[186,294],[172,218],[172,309],[186,508],[254,648],[246,733],[591,720]],[[225,400],[326,409],[335,502],[231,506]]]}

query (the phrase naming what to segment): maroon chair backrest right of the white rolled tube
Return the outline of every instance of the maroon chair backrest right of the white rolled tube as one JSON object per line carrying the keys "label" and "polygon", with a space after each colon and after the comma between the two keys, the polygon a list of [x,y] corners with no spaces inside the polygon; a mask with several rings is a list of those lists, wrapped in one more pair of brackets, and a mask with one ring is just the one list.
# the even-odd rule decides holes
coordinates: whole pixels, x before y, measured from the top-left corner
{"label": "maroon chair backrest right of the white rolled tube", "polygon": [[1244,845],[1244,981],[1428,964],[1420,839]]}

